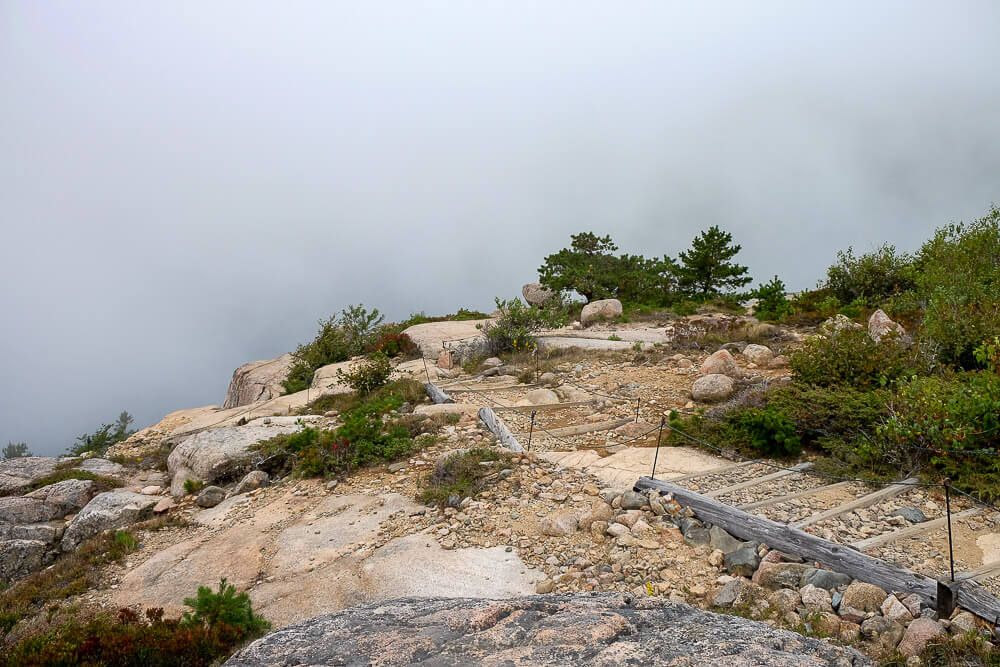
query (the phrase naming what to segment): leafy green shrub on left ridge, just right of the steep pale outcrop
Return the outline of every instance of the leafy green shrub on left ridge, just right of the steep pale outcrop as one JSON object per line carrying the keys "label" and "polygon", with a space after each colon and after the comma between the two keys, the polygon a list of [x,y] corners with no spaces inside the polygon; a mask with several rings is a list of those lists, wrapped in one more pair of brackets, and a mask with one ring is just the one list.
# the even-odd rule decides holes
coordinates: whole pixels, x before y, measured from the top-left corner
{"label": "leafy green shrub on left ridge, just right of the steep pale outcrop", "polygon": [[292,353],[295,361],[283,382],[285,391],[304,391],[312,384],[317,368],[362,354],[375,342],[383,319],[377,308],[369,311],[358,304],[345,308],[339,317],[321,320],[313,341],[299,345]]}

